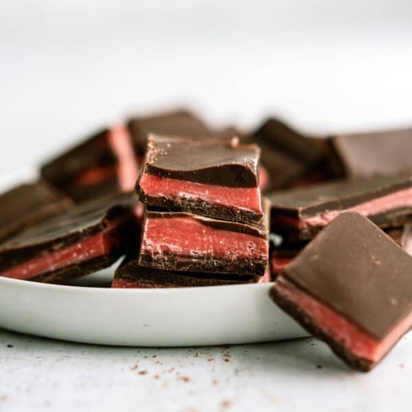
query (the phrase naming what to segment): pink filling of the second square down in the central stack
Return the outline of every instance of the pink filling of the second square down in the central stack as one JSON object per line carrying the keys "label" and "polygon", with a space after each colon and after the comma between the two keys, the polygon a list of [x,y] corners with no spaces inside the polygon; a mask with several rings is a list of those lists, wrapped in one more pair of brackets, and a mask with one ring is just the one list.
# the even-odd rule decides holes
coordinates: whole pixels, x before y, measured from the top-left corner
{"label": "pink filling of the second square down in the central stack", "polygon": [[163,252],[226,260],[266,258],[267,242],[256,236],[203,225],[190,217],[147,218],[142,253]]}

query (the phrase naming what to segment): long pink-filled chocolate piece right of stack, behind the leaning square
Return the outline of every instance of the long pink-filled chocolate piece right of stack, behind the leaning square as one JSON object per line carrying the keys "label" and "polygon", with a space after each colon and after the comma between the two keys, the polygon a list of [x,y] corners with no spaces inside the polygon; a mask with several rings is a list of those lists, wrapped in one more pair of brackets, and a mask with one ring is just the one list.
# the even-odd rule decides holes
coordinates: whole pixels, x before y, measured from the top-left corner
{"label": "long pink-filled chocolate piece right of stack, behind the leaning square", "polygon": [[363,214],[382,228],[398,227],[412,213],[412,177],[334,181],[269,198],[272,229],[289,242],[312,238],[343,211]]}

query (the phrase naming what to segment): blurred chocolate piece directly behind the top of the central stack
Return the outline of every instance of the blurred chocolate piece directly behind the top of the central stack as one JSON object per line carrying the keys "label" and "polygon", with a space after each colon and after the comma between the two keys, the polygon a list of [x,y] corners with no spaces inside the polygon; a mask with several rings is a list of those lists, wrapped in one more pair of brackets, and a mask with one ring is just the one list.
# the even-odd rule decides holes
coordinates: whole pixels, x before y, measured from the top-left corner
{"label": "blurred chocolate piece directly behind the top of the central stack", "polygon": [[203,120],[187,110],[135,117],[128,121],[127,127],[133,137],[133,144],[141,156],[146,154],[150,134],[190,137],[191,139],[205,139],[213,135]]}

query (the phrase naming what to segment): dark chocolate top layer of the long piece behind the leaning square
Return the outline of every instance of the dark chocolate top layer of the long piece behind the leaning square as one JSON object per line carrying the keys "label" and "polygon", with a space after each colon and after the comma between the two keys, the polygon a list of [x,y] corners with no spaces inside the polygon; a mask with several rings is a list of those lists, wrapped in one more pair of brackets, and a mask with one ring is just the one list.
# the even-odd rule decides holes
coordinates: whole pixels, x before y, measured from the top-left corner
{"label": "dark chocolate top layer of the long piece behind the leaning square", "polygon": [[275,192],[268,198],[273,211],[304,218],[322,211],[347,209],[411,186],[412,176],[376,176],[352,181],[339,180],[288,192]]}

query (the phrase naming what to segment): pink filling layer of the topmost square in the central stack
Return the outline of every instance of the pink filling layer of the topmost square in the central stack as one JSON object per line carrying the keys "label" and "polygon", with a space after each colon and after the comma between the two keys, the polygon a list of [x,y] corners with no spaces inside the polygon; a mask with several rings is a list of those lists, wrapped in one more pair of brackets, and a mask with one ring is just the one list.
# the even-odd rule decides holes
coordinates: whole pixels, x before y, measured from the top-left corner
{"label": "pink filling layer of the topmost square in the central stack", "polygon": [[258,187],[205,185],[179,179],[144,174],[140,186],[148,196],[200,200],[215,205],[256,211],[262,214]]}

